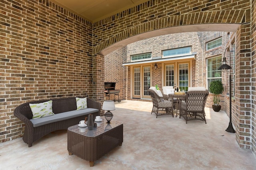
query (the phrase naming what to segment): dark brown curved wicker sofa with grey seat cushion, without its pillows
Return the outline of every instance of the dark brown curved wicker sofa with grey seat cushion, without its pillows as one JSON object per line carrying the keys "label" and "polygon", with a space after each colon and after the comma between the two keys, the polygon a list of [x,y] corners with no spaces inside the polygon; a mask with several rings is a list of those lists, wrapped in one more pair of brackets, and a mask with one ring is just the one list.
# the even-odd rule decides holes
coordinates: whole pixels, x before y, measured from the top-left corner
{"label": "dark brown curved wicker sofa with grey seat cushion, without its pillows", "polygon": [[[68,129],[72,125],[76,125],[79,121],[84,120],[90,113],[94,119],[100,115],[101,104],[90,98],[87,98],[87,109],[76,110],[76,98],[58,98],[52,100],[52,111],[54,115],[32,119],[33,114],[29,104],[39,104],[49,100],[38,100],[21,104],[14,109],[14,115],[25,123],[23,141],[32,147],[32,143],[44,135],[60,130]],[[37,122],[35,123],[34,120]],[[32,123],[34,122],[34,123]]]}

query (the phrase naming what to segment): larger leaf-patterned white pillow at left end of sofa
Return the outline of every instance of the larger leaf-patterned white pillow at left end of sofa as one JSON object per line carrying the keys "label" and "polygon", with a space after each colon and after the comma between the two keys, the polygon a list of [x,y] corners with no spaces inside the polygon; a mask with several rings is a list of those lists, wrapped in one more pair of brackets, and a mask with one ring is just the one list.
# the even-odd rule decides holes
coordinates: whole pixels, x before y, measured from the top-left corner
{"label": "larger leaf-patterned white pillow at left end of sofa", "polygon": [[29,106],[33,114],[32,119],[54,115],[52,112],[52,100],[38,104],[29,104]]}

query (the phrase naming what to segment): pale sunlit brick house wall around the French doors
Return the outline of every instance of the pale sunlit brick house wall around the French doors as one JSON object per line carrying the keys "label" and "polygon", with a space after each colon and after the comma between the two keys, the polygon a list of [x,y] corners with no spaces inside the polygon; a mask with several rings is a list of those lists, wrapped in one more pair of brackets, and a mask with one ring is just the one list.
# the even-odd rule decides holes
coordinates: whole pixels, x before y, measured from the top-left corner
{"label": "pale sunlit brick house wall around the French doors", "polygon": [[[209,57],[216,57],[222,55],[225,49],[226,42],[225,32],[188,32],[188,33],[176,33],[162,35],[158,37],[148,38],[145,40],[137,41],[135,43],[127,45],[127,53],[123,53],[126,62],[130,62],[130,55],[136,55],[140,53],[152,53],[152,59],[162,56],[162,50],[180,48],[186,46],[192,46],[192,52],[196,52],[196,60],[192,60],[192,86],[205,86],[207,84],[206,73],[206,59]],[[206,43],[216,38],[222,37],[222,47],[214,48],[206,51]],[[118,58],[118,55],[116,56]],[[115,59],[116,60],[116,59]],[[158,84],[160,89],[162,88],[162,64],[158,63],[158,69],[154,70],[154,64],[152,63],[152,86]],[[130,66],[129,66],[130,70]],[[107,73],[106,73],[107,74]],[[128,74],[128,77],[130,73]],[[129,82],[129,81],[128,81]],[[130,83],[128,84],[130,87]],[[226,88],[228,92],[228,88]],[[128,94],[131,92],[128,90]],[[225,109],[224,96],[225,92],[221,96],[220,105],[222,110]],[[128,95],[127,95],[128,96]],[[129,97],[128,100],[131,98]],[[209,95],[206,106],[212,106],[212,95]]]}

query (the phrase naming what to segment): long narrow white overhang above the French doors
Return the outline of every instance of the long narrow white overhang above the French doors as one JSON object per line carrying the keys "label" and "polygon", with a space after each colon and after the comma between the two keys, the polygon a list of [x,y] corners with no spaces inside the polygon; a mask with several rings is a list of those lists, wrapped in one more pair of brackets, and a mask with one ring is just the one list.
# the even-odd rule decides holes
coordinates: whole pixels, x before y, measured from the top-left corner
{"label": "long narrow white overhang above the French doors", "polygon": [[182,55],[182,56],[175,56],[175,57],[154,57],[150,60],[143,60],[143,61],[132,61],[129,63],[123,63],[123,66],[130,66],[130,65],[137,65],[137,64],[148,64],[148,63],[156,63],[156,62],[166,62],[166,61],[175,61],[175,60],[184,60],[184,59],[196,59],[196,53],[192,53],[190,55]]}

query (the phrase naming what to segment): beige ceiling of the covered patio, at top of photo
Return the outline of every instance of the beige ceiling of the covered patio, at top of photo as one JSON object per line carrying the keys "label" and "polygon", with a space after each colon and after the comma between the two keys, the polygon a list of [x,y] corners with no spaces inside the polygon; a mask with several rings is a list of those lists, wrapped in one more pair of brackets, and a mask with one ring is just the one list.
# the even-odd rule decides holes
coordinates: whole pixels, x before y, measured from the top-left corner
{"label": "beige ceiling of the covered patio, at top of photo", "polygon": [[51,0],[59,6],[94,23],[148,0]]}

